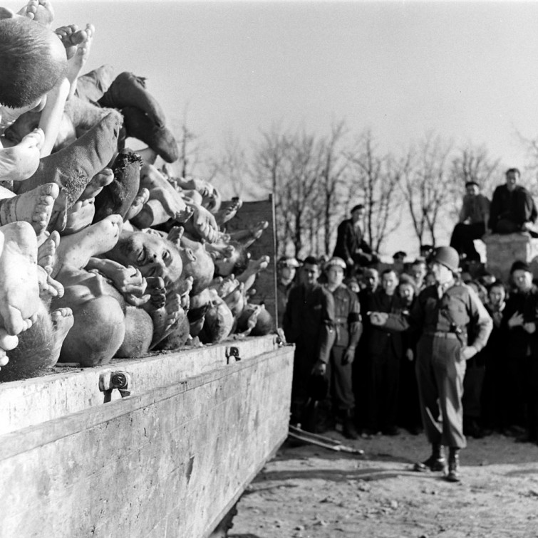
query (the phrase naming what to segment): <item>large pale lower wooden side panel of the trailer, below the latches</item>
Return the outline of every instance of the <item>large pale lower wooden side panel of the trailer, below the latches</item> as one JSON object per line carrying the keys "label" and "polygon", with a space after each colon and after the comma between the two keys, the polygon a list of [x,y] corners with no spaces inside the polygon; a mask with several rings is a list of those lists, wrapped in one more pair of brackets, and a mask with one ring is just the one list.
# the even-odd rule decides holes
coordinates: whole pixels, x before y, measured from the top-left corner
{"label": "large pale lower wooden side panel of the trailer, below the latches", "polygon": [[293,348],[0,436],[0,537],[206,537],[287,434]]}

